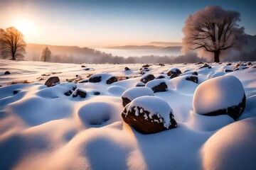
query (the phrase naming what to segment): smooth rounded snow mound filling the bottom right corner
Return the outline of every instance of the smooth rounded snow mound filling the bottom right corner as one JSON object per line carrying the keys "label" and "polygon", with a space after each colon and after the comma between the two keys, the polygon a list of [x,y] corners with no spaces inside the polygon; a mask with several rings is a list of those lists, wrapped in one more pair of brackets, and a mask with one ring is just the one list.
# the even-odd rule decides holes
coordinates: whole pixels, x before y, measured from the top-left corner
{"label": "smooth rounded snow mound filling the bottom right corner", "polygon": [[256,169],[256,118],[227,125],[201,150],[203,169]]}

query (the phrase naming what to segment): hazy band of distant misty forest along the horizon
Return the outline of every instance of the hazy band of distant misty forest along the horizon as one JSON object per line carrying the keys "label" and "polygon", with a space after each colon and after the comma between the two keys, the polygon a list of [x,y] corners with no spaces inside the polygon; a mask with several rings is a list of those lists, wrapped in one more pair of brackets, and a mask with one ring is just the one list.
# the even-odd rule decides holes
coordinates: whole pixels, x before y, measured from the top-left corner
{"label": "hazy band of distant misty forest along the horizon", "polygon": [[[256,60],[256,35],[245,35],[247,43],[239,50],[229,50],[220,57],[221,62],[233,61],[255,61]],[[26,47],[26,57],[24,60],[39,61],[39,56],[43,47],[48,47],[52,53],[50,62],[65,63],[194,63],[194,62],[213,62],[212,57],[198,54],[196,52],[188,52],[186,55],[179,56],[157,56],[146,55],[142,57],[120,57],[100,52],[88,47],[77,46],[56,46],[56,45],[38,45],[28,44]]]}

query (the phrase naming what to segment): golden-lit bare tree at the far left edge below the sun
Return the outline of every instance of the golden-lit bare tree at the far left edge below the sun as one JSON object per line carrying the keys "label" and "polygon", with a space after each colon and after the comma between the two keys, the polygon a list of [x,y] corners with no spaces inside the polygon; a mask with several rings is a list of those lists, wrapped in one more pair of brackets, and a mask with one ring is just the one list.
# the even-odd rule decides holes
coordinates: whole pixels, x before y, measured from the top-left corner
{"label": "golden-lit bare tree at the far left edge below the sun", "polygon": [[14,27],[0,29],[0,50],[2,58],[23,59],[26,42],[23,34]]}

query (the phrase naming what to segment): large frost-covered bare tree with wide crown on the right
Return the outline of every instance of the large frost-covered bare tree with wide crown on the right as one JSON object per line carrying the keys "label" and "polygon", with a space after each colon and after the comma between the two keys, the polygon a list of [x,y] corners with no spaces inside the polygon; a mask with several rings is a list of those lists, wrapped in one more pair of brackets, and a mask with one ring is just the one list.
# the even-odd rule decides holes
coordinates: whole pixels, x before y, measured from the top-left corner
{"label": "large frost-covered bare tree with wide crown on the right", "polygon": [[214,54],[220,62],[220,52],[238,47],[244,28],[238,25],[240,13],[225,11],[220,6],[206,6],[188,16],[183,28],[183,51],[203,50]]}

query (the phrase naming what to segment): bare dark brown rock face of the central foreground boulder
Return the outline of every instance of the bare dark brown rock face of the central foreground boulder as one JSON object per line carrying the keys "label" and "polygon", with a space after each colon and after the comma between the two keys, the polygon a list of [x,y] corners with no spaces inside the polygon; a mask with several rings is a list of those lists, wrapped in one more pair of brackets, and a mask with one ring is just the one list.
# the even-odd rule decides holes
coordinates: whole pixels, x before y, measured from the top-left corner
{"label": "bare dark brown rock face of the central foreground boulder", "polygon": [[[137,107],[137,108],[136,108]],[[144,108],[136,106],[132,108],[132,111],[127,111],[127,108],[124,108],[124,111],[122,112],[122,118],[125,123],[131,125],[133,128],[135,128],[138,132],[141,132],[143,134],[151,134],[156,132],[161,132],[164,130],[169,130],[172,128],[177,128],[176,120],[174,119],[174,115],[172,113],[169,114],[171,125],[166,128],[163,125],[164,118],[159,118],[157,115],[153,115],[151,118],[149,117],[149,111],[145,111]],[[139,115],[135,115],[136,109],[139,109],[142,113],[139,113]],[[144,114],[147,115],[147,119],[145,120]],[[158,120],[159,123],[153,121]]]}

